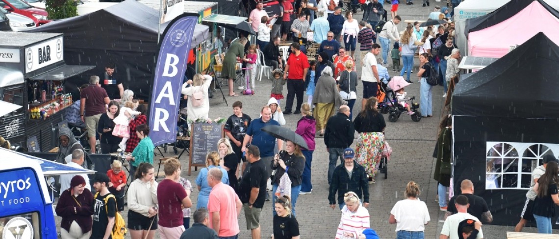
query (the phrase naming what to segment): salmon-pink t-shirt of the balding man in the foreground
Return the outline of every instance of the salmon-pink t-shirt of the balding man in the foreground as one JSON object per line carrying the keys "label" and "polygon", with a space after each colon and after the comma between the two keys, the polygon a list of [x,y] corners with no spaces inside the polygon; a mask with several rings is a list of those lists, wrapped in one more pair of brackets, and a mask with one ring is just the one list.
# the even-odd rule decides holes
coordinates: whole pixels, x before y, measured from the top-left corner
{"label": "salmon-pink t-shirt of the balding man in the foreground", "polygon": [[218,183],[211,189],[208,201],[208,211],[210,212],[210,228],[212,225],[212,212],[219,212],[220,226],[217,236],[230,237],[239,234],[239,221],[237,219],[236,201],[239,196],[231,186]]}

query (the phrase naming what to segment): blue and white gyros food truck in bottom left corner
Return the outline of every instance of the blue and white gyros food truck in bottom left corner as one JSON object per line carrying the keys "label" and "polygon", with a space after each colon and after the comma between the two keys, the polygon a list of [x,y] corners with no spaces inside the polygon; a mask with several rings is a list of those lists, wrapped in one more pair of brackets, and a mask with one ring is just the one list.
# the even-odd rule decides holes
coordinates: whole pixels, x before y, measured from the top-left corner
{"label": "blue and white gyros food truck in bottom left corner", "polygon": [[0,148],[0,236],[3,239],[55,239],[53,199],[46,177],[94,173],[87,169]]}

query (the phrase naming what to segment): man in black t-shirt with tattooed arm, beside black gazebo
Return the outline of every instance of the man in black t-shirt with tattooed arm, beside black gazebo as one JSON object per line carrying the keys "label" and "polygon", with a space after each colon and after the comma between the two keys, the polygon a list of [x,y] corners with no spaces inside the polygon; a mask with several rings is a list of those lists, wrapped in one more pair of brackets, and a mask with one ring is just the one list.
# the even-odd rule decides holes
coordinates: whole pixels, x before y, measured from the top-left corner
{"label": "man in black t-shirt with tattooed arm, beside black gazebo", "polygon": [[[487,207],[487,202],[485,202],[485,199],[473,194],[472,181],[468,179],[463,180],[460,184],[460,189],[462,190],[462,194],[459,195],[466,196],[468,198],[468,202],[470,202],[468,213],[470,213],[474,217],[480,218],[480,220],[484,220],[487,223],[492,222],[493,216],[489,211],[489,207]],[[447,213],[444,214],[445,219],[452,214],[458,213],[458,210],[454,205],[454,201],[456,201],[456,197],[458,197],[459,195],[454,195],[454,197],[452,197],[448,202]]]}

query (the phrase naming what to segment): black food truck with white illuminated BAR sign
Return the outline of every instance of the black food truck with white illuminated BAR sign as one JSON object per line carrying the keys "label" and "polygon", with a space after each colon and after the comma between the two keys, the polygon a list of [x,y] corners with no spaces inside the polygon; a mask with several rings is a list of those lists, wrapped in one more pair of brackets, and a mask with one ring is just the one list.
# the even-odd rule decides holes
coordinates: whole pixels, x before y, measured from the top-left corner
{"label": "black food truck with white illuminated BAR sign", "polygon": [[54,148],[58,123],[72,105],[64,80],[93,67],[64,63],[62,33],[3,32],[0,100],[23,107],[0,117],[0,136],[23,148],[35,136],[42,152]]}

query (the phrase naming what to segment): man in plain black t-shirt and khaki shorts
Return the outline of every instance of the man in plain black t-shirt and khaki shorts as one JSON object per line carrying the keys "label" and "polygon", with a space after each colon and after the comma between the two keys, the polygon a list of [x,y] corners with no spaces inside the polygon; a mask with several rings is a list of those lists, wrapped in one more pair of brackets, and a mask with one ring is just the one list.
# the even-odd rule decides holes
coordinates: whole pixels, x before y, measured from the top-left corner
{"label": "man in plain black t-shirt and khaki shorts", "polygon": [[247,229],[251,230],[252,238],[255,239],[260,238],[259,220],[266,199],[268,173],[266,173],[266,165],[260,160],[260,150],[256,145],[247,147],[246,156],[250,165],[243,174],[239,196],[247,219]]}

